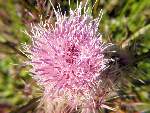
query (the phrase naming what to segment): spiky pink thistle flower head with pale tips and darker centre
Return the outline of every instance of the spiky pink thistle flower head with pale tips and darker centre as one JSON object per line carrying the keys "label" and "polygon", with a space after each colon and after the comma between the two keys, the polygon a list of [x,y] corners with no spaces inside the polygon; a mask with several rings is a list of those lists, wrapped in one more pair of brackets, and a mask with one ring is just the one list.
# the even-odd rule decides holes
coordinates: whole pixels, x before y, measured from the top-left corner
{"label": "spiky pink thistle flower head with pale tips and darker centre", "polygon": [[48,96],[46,101],[65,100],[71,107],[90,113],[104,106],[109,90],[101,79],[109,62],[104,51],[112,44],[103,43],[98,33],[100,17],[93,19],[86,8],[83,14],[81,10],[79,5],[69,16],[54,10],[54,26],[48,21],[32,26],[32,45],[26,46],[26,51],[33,78]]}

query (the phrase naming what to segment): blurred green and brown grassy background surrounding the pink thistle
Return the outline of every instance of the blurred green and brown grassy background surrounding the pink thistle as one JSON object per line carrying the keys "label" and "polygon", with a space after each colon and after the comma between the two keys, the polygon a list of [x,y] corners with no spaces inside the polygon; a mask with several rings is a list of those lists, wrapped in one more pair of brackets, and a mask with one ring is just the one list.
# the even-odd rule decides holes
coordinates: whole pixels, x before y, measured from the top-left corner
{"label": "blurred green and brown grassy background surrounding the pink thistle", "polygon": [[[54,6],[60,3],[62,12],[69,10],[67,0],[52,2]],[[111,100],[117,111],[103,112],[150,113],[150,0],[88,0],[88,5],[94,18],[103,9],[100,32],[104,40],[120,48],[130,45],[134,54],[141,56],[135,71],[128,75],[140,80],[118,90],[119,98]],[[76,0],[71,0],[70,7],[76,7]],[[49,0],[0,0],[0,113],[34,113],[32,109],[20,110],[41,92],[28,72],[30,67],[24,65],[27,58],[21,44],[30,41],[23,31],[39,22],[40,15],[45,20],[51,14]]]}

